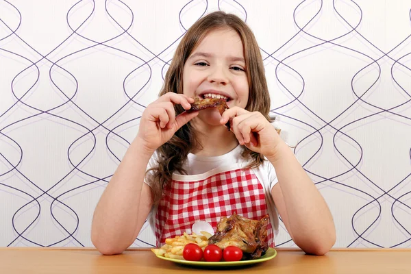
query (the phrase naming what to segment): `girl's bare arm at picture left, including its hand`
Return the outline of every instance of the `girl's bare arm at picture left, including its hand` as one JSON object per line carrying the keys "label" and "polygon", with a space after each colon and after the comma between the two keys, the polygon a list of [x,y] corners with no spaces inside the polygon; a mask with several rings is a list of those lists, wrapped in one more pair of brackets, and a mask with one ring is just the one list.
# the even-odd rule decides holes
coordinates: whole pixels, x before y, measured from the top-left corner
{"label": "girl's bare arm at picture left, including its hand", "polygon": [[194,99],[167,92],[142,113],[138,135],[105,188],[92,219],[91,240],[103,254],[121,253],[132,245],[150,212],[153,196],[145,184],[147,164],[164,142],[198,115],[183,112],[175,116],[174,105],[185,110]]}

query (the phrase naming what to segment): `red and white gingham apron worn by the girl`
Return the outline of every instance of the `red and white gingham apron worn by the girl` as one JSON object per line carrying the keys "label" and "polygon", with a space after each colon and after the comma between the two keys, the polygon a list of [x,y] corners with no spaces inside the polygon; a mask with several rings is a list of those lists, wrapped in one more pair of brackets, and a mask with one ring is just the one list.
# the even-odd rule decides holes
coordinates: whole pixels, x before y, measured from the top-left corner
{"label": "red and white gingham apron worn by the girl", "polygon": [[[254,220],[267,214],[264,188],[249,169],[226,171],[196,182],[173,180],[155,215],[157,245],[164,245],[166,238],[190,234],[192,224],[199,220],[210,223],[215,232],[221,216],[234,212]],[[268,236],[274,247],[271,222]]]}

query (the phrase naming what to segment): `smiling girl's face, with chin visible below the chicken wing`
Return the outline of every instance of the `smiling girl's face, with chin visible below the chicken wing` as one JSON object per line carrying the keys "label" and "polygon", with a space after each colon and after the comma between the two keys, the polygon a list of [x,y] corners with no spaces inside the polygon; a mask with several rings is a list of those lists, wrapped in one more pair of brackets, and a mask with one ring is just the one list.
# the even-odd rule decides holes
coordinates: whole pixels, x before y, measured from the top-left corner
{"label": "smiling girl's face, with chin visible below the chicken wing", "polygon": [[[240,36],[233,29],[211,31],[184,64],[184,95],[192,98],[223,98],[229,108],[245,108],[249,98],[247,68]],[[220,125],[216,108],[202,110],[199,119]]]}

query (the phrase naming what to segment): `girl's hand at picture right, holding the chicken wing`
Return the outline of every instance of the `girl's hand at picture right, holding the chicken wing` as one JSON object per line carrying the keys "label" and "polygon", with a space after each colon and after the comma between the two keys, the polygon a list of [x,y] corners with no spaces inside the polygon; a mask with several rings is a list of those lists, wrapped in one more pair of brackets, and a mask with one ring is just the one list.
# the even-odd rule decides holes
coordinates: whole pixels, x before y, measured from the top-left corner
{"label": "girl's hand at picture right, holding the chicken wing", "polygon": [[275,155],[275,149],[281,141],[274,126],[261,112],[249,112],[243,108],[233,107],[225,110],[221,125],[232,119],[230,130],[234,132],[240,145],[252,151],[262,153],[266,158]]}

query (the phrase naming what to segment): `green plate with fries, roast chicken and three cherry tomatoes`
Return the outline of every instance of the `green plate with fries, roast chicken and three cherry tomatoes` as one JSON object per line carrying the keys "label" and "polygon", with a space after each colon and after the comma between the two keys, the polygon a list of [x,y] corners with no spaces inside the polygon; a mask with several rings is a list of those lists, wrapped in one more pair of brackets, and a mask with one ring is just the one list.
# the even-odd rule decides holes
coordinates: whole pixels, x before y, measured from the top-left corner
{"label": "green plate with fries, roast chicken and three cherry tomatoes", "polygon": [[215,233],[211,225],[200,221],[192,226],[190,234],[184,232],[181,236],[167,238],[162,247],[151,251],[162,260],[195,266],[265,262],[277,256],[277,251],[268,245],[268,221],[268,216],[258,221],[233,214],[221,218]]}

